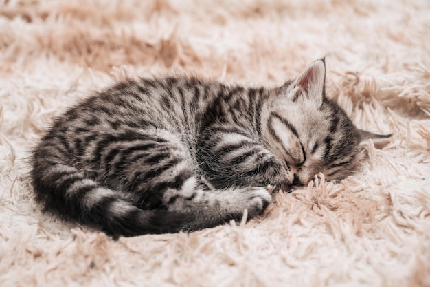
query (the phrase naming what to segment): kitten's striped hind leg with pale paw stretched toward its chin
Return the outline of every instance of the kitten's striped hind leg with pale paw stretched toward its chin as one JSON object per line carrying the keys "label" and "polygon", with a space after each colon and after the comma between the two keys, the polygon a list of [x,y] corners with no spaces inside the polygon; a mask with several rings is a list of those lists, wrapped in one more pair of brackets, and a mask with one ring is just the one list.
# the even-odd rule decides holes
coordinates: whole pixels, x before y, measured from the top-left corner
{"label": "kitten's striped hind leg with pale paw stretched toward its chin", "polygon": [[141,209],[187,215],[190,220],[183,226],[186,230],[240,220],[245,209],[251,218],[271,202],[266,187],[205,187],[190,150],[169,131],[157,130],[118,148],[121,150],[105,151],[105,157],[109,157],[106,170],[113,178],[122,179],[122,186],[114,188],[135,194],[134,204]]}

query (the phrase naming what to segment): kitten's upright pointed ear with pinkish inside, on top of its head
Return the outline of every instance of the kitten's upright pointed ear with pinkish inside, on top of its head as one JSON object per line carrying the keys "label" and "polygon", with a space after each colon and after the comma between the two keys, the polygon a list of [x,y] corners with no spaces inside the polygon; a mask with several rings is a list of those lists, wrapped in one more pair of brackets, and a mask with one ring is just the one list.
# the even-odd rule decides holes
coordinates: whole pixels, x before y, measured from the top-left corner
{"label": "kitten's upright pointed ear with pinkish inside, on top of its head", "polygon": [[326,82],[326,63],[324,59],[310,64],[293,82],[293,102],[302,96],[322,104]]}

